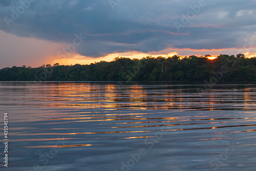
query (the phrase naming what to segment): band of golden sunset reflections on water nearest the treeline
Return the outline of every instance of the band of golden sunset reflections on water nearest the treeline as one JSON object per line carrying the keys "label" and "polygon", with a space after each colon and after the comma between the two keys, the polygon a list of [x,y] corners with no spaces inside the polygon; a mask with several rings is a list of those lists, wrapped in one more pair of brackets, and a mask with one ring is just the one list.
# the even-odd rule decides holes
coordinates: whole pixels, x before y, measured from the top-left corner
{"label": "band of golden sunset reflections on water nearest the treeline", "polygon": [[[69,87],[67,89],[67,87]],[[193,87],[193,85],[191,85]],[[177,89],[175,86],[162,86],[161,89],[157,86],[153,86],[153,89],[142,85],[129,85],[119,86],[116,84],[98,85],[93,83],[68,83],[66,86],[57,84],[56,86],[49,86],[48,98],[42,100],[48,101],[45,105],[50,105],[56,108],[87,108],[94,109],[94,112],[98,112],[98,109],[104,109],[104,112],[108,110],[119,109],[154,109],[154,110],[166,110],[166,109],[180,109],[180,110],[209,110],[214,111],[216,108],[222,108],[223,102],[228,103],[225,100],[231,97],[241,98],[242,94],[225,94],[224,91],[218,89],[204,90],[205,92],[187,92],[187,88],[180,86]],[[152,91],[154,90],[154,91]],[[47,90],[45,90],[47,91]],[[238,107],[248,110],[251,108],[251,88],[245,88],[243,94],[242,103],[237,104]],[[194,95],[204,96],[203,98],[193,98]],[[219,95],[224,97],[219,99]],[[49,103],[52,102],[52,103]],[[160,103],[159,103],[160,102]],[[224,106],[225,107],[225,106]],[[255,108],[255,107],[254,107]],[[103,112],[103,111],[102,111]]]}

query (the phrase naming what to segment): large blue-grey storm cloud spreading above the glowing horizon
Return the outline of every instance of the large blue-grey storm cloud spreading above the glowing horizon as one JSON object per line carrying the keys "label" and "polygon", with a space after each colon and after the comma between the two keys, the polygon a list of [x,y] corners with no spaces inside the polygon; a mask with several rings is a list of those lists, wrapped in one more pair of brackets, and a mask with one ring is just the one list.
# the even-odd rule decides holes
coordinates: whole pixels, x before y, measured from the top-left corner
{"label": "large blue-grey storm cloud spreading above the glowing horizon", "polygon": [[82,33],[87,39],[76,52],[89,57],[241,48],[255,35],[255,7],[254,0],[13,0],[0,3],[0,29],[63,43]]}

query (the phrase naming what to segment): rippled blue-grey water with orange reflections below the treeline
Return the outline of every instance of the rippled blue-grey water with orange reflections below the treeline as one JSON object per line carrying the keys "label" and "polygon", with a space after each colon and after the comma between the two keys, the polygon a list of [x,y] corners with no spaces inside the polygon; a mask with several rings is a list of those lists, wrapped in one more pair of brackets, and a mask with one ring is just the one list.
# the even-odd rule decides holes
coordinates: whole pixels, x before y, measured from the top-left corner
{"label": "rippled blue-grey water with orange reflections below the treeline", "polygon": [[0,170],[256,170],[255,97],[256,85],[0,82]]}

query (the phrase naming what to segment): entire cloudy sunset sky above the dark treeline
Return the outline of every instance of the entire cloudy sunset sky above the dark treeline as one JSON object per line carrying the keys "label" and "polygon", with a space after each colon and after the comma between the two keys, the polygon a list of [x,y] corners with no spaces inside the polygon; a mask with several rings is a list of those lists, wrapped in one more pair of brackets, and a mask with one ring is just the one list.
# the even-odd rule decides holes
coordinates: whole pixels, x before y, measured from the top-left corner
{"label": "entire cloudy sunset sky above the dark treeline", "polygon": [[256,0],[1,0],[0,68],[256,56]]}

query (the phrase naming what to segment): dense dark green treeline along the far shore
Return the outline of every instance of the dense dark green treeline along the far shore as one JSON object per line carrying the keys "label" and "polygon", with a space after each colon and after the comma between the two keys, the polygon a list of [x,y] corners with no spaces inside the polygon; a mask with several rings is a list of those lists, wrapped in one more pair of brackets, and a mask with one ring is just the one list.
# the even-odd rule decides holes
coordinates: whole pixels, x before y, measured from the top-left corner
{"label": "dense dark green treeline along the far shore", "polygon": [[256,57],[115,58],[90,65],[42,65],[0,70],[0,81],[256,81]]}

